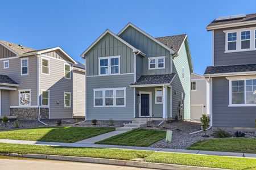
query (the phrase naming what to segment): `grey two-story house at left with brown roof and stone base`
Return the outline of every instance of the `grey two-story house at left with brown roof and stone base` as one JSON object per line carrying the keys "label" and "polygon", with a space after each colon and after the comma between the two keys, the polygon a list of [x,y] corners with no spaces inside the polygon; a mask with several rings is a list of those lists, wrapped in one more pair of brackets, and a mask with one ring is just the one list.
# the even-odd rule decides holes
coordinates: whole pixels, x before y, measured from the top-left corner
{"label": "grey two-story house at left with brown roof and stone base", "polygon": [[[80,117],[81,112],[73,110],[73,105],[80,102],[76,99],[80,99],[73,99],[73,95],[85,88],[83,66],[60,47],[35,50],[0,40],[0,116]],[[84,90],[79,92],[80,97],[82,92],[85,96]],[[85,114],[85,103],[77,105]]]}

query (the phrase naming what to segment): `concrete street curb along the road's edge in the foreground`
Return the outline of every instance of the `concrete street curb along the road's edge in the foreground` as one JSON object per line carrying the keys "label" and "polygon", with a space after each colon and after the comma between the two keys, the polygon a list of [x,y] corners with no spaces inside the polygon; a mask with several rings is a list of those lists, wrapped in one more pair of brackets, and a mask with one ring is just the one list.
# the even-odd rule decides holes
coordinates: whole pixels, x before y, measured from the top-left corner
{"label": "concrete street curb along the road's edge in the foreground", "polygon": [[104,159],[104,158],[88,158],[79,156],[59,156],[59,155],[40,155],[40,154],[0,154],[4,156],[15,156],[22,158],[34,158],[34,159],[49,159],[49,160],[63,160],[69,162],[83,162],[83,163],[97,163],[97,164],[109,164],[119,165],[127,167],[137,168],[151,168],[151,169],[179,169],[179,170],[218,170],[220,168],[208,168],[208,167],[194,167],[189,165],[176,165],[176,164],[163,164],[163,163],[148,163],[148,162],[137,162],[132,160],[118,160],[118,159]]}

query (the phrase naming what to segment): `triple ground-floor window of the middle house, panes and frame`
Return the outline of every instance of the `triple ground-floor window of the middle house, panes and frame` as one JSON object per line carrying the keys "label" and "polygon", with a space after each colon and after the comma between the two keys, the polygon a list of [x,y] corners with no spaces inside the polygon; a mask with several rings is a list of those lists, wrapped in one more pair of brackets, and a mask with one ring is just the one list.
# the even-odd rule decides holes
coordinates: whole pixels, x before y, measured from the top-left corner
{"label": "triple ground-floor window of the middle house, panes and frame", "polygon": [[94,89],[94,107],[125,107],[126,88]]}

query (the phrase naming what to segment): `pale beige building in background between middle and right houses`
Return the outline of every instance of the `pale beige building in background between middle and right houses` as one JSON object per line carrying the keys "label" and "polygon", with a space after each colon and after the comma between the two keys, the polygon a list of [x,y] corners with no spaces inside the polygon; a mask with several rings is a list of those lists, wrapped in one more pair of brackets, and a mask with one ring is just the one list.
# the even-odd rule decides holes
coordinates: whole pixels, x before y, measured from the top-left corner
{"label": "pale beige building in background between middle and right houses", "polygon": [[191,119],[200,120],[210,113],[209,82],[203,76],[191,73]]}

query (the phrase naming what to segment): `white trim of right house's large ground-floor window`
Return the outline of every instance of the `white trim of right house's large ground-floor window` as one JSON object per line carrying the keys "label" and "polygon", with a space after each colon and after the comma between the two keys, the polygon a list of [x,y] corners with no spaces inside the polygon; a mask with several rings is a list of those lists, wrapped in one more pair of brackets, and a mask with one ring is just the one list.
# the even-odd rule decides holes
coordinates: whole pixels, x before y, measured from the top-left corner
{"label": "white trim of right house's large ground-floor window", "polygon": [[[244,95],[245,95],[245,101],[243,104],[232,104],[232,81],[237,80],[243,80],[245,89],[244,89]],[[232,79],[229,80],[229,105],[228,107],[256,107],[256,104],[246,104],[246,80],[252,80],[252,79]]]}

